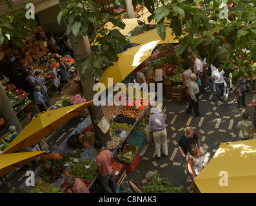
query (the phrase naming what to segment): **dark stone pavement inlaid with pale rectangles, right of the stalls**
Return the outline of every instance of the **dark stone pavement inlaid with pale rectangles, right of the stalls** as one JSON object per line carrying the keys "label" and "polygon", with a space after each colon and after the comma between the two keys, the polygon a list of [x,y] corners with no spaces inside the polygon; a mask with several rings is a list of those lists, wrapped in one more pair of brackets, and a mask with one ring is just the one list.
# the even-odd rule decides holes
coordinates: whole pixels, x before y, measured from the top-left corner
{"label": "dark stone pavement inlaid with pale rectangles, right of the stalls", "polygon": [[184,134],[184,127],[194,127],[194,132],[201,141],[203,153],[202,162],[206,166],[211,160],[221,142],[233,142],[239,140],[235,126],[242,120],[244,111],[250,114],[250,121],[254,118],[252,106],[253,93],[246,94],[246,104],[243,111],[237,109],[237,104],[231,102],[230,97],[225,97],[221,104],[217,104],[217,96],[208,89],[200,96],[199,108],[203,117],[195,117],[193,114],[186,114],[188,104],[183,100],[166,98],[166,129],[168,133],[168,156],[164,156],[161,149],[161,158],[155,158],[155,146],[148,144],[141,153],[141,160],[135,170],[127,172],[126,180],[137,181],[139,186],[146,185],[146,173],[157,171],[160,176],[167,177],[172,186],[179,187],[182,193],[190,191],[191,183],[183,170],[182,155],[179,151],[179,138]]}

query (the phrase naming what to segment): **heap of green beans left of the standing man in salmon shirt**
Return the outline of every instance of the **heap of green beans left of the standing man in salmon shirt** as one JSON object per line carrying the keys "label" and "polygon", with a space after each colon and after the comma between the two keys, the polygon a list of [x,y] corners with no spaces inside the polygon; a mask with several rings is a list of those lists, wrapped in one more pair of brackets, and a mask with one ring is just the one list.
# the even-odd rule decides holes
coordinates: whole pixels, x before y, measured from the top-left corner
{"label": "heap of green beans left of the standing man in salmon shirt", "polygon": [[[90,167],[86,169],[87,165]],[[94,162],[90,162],[88,160],[79,160],[79,162],[72,166],[70,174],[72,174],[75,178],[94,180],[95,176],[97,175],[96,169],[97,166]]]}

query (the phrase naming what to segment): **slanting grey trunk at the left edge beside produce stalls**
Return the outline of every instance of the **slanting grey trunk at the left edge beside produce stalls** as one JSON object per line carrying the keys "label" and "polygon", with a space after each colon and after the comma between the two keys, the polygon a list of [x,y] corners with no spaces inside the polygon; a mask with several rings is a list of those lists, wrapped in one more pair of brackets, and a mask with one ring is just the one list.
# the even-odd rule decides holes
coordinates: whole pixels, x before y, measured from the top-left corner
{"label": "slanting grey trunk at the left edge beside produce stalls", "polygon": [[16,130],[21,132],[23,128],[21,127],[21,123],[17,118],[14,108],[10,104],[10,100],[5,93],[5,89],[0,83],[0,114],[5,120],[5,124],[7,127],[15,126]]}

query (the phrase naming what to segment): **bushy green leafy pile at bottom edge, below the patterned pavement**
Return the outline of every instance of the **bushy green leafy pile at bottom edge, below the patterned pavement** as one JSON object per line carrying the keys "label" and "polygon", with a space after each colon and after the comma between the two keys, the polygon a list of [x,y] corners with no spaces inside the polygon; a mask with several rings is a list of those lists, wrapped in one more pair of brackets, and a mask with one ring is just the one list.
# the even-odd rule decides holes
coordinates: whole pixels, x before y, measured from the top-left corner
{"label": "bushy green leafy pile at bottom edge, below the patterned pavement", "polygon": [[168,178],[159,178],[159,174],[155,174],[155,178],[148,182],[147,186],[142,188],[144,193],[181,193],[177,187],[170,187],[172,185]]}

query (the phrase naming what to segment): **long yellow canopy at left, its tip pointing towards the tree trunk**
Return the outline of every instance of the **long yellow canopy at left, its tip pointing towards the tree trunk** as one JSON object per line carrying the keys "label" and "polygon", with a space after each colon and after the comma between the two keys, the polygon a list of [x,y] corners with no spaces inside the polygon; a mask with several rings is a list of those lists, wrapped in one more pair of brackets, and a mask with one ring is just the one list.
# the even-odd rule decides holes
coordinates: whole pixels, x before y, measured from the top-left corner
{"label": "long yellow canopy at left, its tip pointing towards the tree trunk", "polygon": [[28,126],[19,133],[19,135],[5,148],[0,156],[5,153],[13,153],[20,149],[37,144],[45,136],[50,135],[54,129],[83,112],[84,109],[88,108],[91,104],[93,104],[93,101],[42,113],[40,116],[34,118],[34,120],[32,120],[32,122],[30,122],[30,124],[28,124]]}

